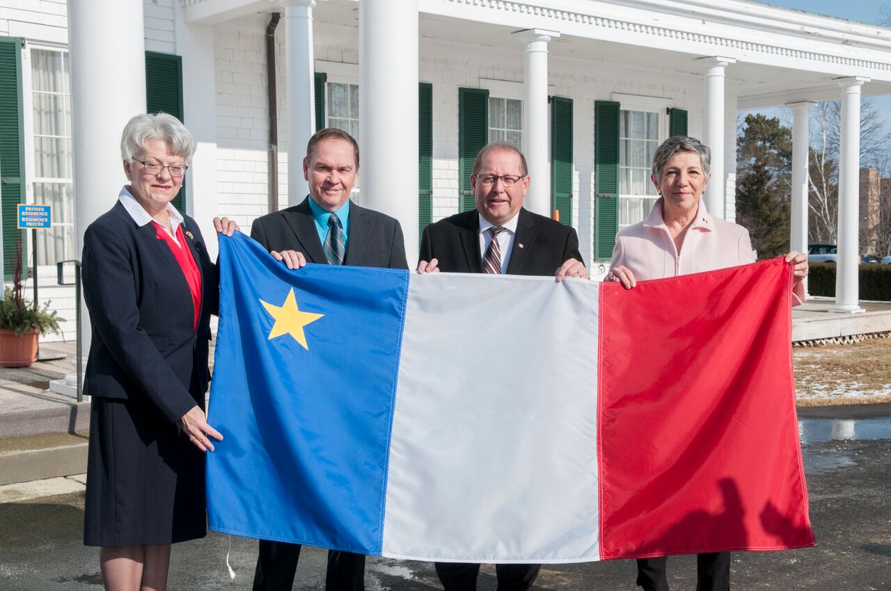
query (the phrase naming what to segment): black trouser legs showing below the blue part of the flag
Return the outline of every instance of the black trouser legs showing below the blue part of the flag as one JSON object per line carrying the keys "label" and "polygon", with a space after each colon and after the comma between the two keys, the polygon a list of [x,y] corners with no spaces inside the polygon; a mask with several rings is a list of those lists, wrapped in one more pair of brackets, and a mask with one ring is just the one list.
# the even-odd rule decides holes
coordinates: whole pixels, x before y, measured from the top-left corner
{"label": "black trouser legs showing below the blue part of the flag", "polygon": [[[299,544],[260,540],[253,591],[290,591],[300,558]],[[327,591],[364,591],[365,556],[338,550],[328,551],[325,573]]]}

